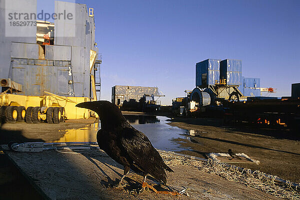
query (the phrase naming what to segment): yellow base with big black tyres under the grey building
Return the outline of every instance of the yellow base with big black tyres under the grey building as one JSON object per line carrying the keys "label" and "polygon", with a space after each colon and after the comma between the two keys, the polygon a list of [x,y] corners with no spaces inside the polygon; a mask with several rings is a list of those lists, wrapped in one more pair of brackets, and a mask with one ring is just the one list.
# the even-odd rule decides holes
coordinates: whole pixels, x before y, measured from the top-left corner
{"label": "yellow base with big black tyres under the grey building", "polygon": [[79,102],[89,101],[88,97],[65,97],[46,92],[44,96],[26,96],[0,93],[0,121],[27,123],[59,123],[64,119],[88,118],[94,115],[84,108],[75,107]]}

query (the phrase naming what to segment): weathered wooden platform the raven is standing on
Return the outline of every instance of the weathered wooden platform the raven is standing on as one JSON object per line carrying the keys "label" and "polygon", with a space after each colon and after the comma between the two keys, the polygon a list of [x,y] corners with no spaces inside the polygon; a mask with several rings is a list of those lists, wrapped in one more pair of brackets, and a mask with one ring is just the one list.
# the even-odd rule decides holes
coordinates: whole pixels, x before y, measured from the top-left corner
{"label": "weathered wooden platform the raven is standing on", "polygon": [[185,165],[171,166],[174,173],[167,172],[167,185],[174,190],[186,187],[190,196],[157,195],[148,191],[130,194],[126,188],[140,183],[142,177],[130,172],[124,179],[129,185],[125,189],[106,188],[121,177],[123,170],[101,150],[28,153],[11,151],[7,145],[1,147],[31,184],[48,199],[278,199]]}

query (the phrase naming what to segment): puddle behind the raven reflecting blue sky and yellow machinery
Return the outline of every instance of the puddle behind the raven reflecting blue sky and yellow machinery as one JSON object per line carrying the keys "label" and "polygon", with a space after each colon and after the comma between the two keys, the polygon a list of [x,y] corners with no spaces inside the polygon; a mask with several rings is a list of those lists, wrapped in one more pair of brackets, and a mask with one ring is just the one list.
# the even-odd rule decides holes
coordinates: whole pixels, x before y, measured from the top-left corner
{"label": "puddle behind the raven reflecting blue sky and yellow machinery", "polygon": [[[171,141],[173,138],[185,138],[185,129],[166,124],[167,117],[153,115],[124,115],[130,124],[137,130],[143,132],[155,148],[161,150],[180,151],[177,142]],[[67,141],[96,141],[97,130],[100,123],[92,123],[79,129],[67,129],[60,139],[53,142]]]}

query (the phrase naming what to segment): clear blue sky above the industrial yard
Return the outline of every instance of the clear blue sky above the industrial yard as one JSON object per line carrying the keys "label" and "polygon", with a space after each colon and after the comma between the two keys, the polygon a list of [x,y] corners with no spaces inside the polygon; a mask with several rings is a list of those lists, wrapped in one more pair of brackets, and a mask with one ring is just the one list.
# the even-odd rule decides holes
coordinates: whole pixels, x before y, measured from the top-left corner
{"label": "clear blue sky above the industrial yard", "polygon": [[[241,59],[273,96],[300,82],[300,0],[80,0],[95,9],[101,99],[113,85],[158,86],[163,104],[195,87],[195,63]],[[268,95],[265,93],[265,95]]]}

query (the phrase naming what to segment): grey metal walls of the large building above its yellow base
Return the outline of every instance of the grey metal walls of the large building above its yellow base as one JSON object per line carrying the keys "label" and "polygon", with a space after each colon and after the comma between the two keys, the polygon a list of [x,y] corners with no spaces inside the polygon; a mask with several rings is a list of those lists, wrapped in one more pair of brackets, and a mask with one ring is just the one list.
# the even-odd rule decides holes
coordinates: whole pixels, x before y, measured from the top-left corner
{"label": "grey metal walls of the large building above its yellow base", "polygon": [[[13,11],[36,12],[36,0],[12,1],[20,7]],[[4,3],[0,1],[2,19]],[[67,10],[75,13],[75,18],[54,21],[55,45],[45,45],[42,56],[42,47],[36,44],[36,26],[26,32],[28,37],[5,37],[5,24],[0,22],[0,78],[21,83],[25,95],[44,95],[45,90],[64,96],[92,97],[89,52],[90,49],[98,51],[94,46],[94,18],[88,16],[85,4],[55,1],[54,7],[55,13]],[[93,69],[91,74],[94,74]]]}

